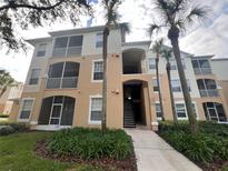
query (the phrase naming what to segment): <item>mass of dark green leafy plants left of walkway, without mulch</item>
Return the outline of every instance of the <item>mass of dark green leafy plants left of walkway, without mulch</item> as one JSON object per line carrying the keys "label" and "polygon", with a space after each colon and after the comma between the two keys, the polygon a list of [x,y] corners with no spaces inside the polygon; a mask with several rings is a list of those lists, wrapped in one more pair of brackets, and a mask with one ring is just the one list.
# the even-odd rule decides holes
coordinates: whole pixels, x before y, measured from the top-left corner
{"label": "mass of dark green leafy plants left of walkway, without mulch", "polygon": [[131,138],[122,130],[66,129],[56,132],[48,141],[52,153],[77,155],[81,159],[126,159],[132,153]]}

